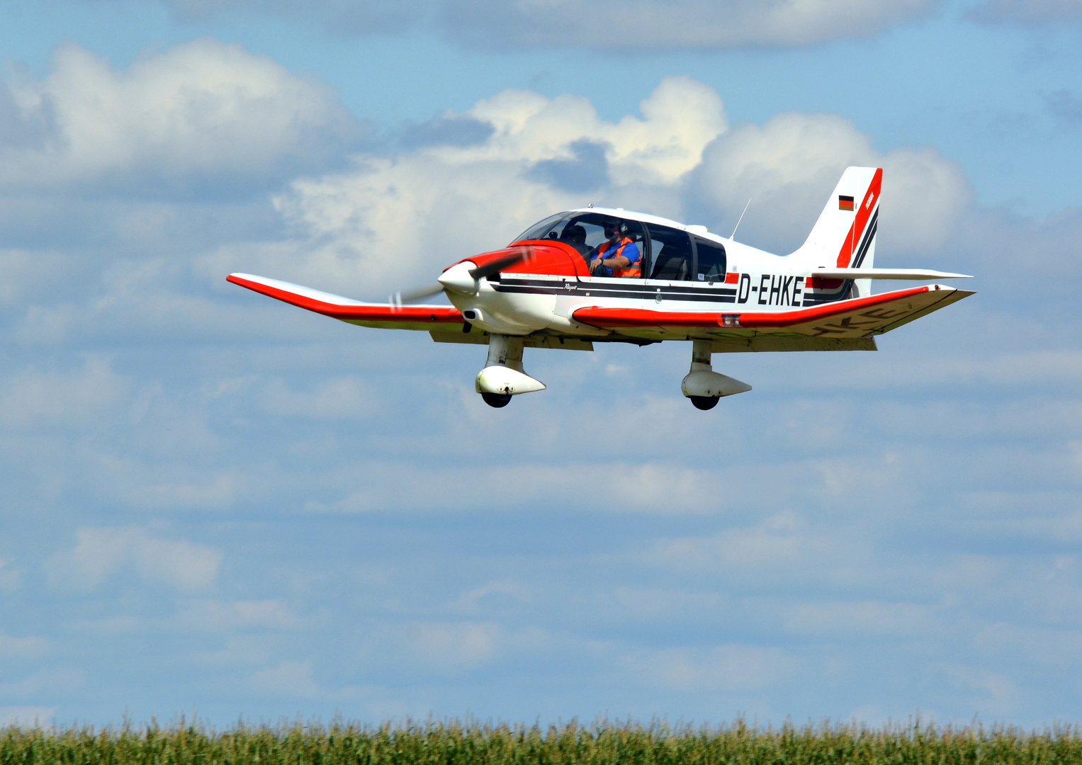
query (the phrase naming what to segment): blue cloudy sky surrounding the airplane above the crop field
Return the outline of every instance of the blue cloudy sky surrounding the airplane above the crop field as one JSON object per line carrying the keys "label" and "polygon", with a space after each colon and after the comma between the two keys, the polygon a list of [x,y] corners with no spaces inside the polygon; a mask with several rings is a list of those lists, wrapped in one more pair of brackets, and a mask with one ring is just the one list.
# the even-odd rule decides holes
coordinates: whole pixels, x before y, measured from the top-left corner
{"label": "blue cloudy sky surrounding the airplane above the crop field", "polygon": [[[0,722],[1082,716],[1079,0],[0,0]],[[783,254],[850,164],[977,294],[709,412],[687,344],[497,410],[225,281],[589,202]]]}

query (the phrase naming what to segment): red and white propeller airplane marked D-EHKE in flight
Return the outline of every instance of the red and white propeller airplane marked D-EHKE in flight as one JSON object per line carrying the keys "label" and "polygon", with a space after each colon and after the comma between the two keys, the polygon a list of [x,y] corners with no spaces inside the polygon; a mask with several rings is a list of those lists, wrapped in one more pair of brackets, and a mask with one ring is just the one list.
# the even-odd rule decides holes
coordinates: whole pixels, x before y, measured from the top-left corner
{"label": "red and white propeller airplane marked D-EHKE in flight", "polygon": [[[726,239],[705,226],[590,206],[546,217],[506,247],[461,260],[436,283],[386,303],[250,274],[226,278],[348,324],[487,345],[474,387],[497,408],[545,388],[523,368],[524,348],[690,341],[691,368],[681,391],[707,410],[751,390],[715,372],[712,354],[875,351],[875,335],[974,294],[939,283],[872,294],[876,279],[972,278],[873,267],[882,183],[882,168],[847,168],[807,240],[789,255],[737,242],[736,229]],[[605,261],[608,268],[592,273],[595,248],[606,241],[609,251],[624,249]],[[635,250],[637,264],[619,259]],[[440,292],[451,305],[413,304]]]}

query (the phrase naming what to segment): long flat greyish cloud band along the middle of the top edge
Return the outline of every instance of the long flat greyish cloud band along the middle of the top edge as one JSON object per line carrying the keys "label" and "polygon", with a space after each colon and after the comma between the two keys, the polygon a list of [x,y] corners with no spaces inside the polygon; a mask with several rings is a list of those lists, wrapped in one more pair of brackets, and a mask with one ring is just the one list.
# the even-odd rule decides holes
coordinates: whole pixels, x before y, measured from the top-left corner
{"label": "long flat greyish cloud band along the middle of the top edge", "polygon": [[[938,0],[160,0],[174,16],[295,16],[337,35],[434,27],[460,43],[637,51],[809,45],[874,35],[920,18]],[[1061,0],[1066,2],[1068,0]]]}

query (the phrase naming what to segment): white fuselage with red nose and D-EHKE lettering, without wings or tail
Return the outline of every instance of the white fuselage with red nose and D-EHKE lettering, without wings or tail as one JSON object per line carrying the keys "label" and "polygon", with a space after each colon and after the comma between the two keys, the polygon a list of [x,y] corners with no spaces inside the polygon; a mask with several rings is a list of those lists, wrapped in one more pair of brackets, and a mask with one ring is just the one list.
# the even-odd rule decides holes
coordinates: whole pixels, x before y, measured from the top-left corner
{"label": "white fuselage with red nose and D-EHKE lettering, without wings or tail", "polygon": [[[563,236],[569,227],[585,228],[591,220],[605,219],[626,221],[631,226],[630,238],[638,248],[643,277],[591,275],[589,259],[604,241],[603,235],[592,232],[594,241],[585,242]],[[601,228],[599,224],[594,227]],[[577,309],[589,305],[715,315],[782,312],[844,300],[855,292],[852,279],[809,276],[806,264],[723,239],[702,226],[599,208],[554,215],[507,248],[470,258],[452,268],[485,265],[524,250],[527,254],[522,262],[481,279],[474,294],[448,291],[448,298],[474,326],[499,334],[554,332],[598,338],[609,332],[576,321]]]}

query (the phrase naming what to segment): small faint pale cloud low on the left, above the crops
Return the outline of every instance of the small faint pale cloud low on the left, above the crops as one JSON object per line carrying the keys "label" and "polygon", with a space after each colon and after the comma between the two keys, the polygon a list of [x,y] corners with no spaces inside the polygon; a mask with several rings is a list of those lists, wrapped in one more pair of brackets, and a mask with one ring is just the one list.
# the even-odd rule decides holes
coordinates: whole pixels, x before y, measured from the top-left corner
{"label": "small faint pale cloud low on the left, above the crops", "polygon": [[45,563],[50,584],[89,590],[131,567],[148,581],[180,590],[204,590],[217,579],[222,552],[204,544],[157,539],[141,528],[82,528],[74,550]]}

